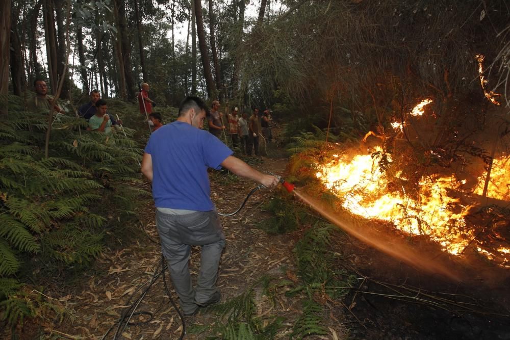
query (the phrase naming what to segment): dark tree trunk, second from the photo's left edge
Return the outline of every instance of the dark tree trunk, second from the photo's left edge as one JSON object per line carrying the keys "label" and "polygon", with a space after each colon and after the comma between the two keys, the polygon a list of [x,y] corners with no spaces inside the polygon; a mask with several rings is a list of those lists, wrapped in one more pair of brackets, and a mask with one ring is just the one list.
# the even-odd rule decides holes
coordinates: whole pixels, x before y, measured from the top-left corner
{"label": "dark tree trunk, second from the photo's left edge", "polygon": [[[12,90],[17,96],[20,96],[26,85],[25,68],[23,64],[23,52],[21,48],[21,40],[18,32],[18,8],[12,8],[11,15],[11,79]],[[9,63],[8,63],[9,64]]]}

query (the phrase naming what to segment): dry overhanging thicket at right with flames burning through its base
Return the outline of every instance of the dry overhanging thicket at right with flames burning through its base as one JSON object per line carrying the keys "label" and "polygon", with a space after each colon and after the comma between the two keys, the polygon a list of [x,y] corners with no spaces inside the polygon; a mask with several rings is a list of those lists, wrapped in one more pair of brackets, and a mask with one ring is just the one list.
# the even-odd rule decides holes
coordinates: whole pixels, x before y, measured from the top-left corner
{"label": "dry overhanging thicket at right with flames burning through its base", "polygon": [[[263,84],[267,98],[275,87],[287,93],[297,112],[290,119],[311,117],[324,131],[315,153],[295,163],[306,158],[353,214],[506,266],[504,240],[466,216],[470,205],[510,199],[510,122],[498,95],[507,74],[507,4],[303,3],[239,47],[262,52],[243,57],[246,83]],[[503,67],[488,68],[495,62]],[[365,144],[352,143],[365,135]],[[301,145],[314,144],[307,141]]]}

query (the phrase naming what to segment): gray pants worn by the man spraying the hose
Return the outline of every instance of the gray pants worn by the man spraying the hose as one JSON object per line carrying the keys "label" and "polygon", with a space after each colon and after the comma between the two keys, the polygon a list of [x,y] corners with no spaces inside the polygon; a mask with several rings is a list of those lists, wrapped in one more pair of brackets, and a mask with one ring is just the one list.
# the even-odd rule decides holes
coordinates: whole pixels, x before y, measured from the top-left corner
{"label": "gray pants worn by the man spraying the hose", "polygon": [[[193,312],[195,301],[205,303],[217,291],[218,265],[225,246],[218,214],[209,211],[173,215],[156,211],[156,226],[181,308],[185,313]],[[188,269],[191,246],[202,247],[195,289]]]}

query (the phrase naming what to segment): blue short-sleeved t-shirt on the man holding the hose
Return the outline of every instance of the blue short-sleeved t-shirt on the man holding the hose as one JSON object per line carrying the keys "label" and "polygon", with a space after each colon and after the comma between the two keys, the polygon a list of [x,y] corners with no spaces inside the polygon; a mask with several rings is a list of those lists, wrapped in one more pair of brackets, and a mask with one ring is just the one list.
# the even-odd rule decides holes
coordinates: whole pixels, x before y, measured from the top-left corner
{"label": "blue short-sleeved t-shirt on the man holding the hose", "polygon": [[156,207],[214,210],[208,168],[234,152],[206,130],[175,121],[152,133],[145,147],[152,158],[152,197]]}

